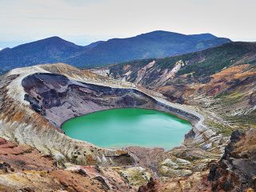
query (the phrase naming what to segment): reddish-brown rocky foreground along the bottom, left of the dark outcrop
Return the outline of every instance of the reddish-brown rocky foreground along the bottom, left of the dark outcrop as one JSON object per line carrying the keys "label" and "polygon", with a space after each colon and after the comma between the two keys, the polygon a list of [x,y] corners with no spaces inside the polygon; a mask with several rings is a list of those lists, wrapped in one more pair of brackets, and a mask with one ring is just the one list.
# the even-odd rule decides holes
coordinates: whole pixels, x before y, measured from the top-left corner
{"label": "reddish-brown rocky foreground along the bottom, left of the dark outcrop", "polygon": [[150,173],[140,166],[78,166],[64,162],[59,167],[56,159],[33,147],[3,138],[0,138],[0,162],[0,190],[8,192],[210,191],[211,187],[206,171],[161,181],[154,176],[150,178]]}

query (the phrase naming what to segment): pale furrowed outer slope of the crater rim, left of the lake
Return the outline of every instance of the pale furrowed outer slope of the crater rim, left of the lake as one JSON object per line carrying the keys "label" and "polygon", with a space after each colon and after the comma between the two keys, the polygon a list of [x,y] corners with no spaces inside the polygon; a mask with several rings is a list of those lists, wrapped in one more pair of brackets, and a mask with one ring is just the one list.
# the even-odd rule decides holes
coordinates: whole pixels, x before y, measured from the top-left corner
{"label": "pale furrowed outer slope of the crater rim, left of the lake", "polygon": [[[15,72],[15,71],[14,71]],[[124,150],[103,149],[89,142],[67,137],[24,102],[24,74],[6,74],[0,79],[0,135],[28,144],[42,154],[63,157],[81,165],[131,165],[134,159]],[[18,97],[23,95],[22,98]]]}

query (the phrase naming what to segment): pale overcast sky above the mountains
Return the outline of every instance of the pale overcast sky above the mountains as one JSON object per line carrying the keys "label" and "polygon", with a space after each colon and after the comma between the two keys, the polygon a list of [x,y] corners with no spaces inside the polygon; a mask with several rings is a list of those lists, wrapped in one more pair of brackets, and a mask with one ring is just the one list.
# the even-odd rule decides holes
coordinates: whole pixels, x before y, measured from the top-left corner
{"label": "pale overcast sky above the mountains", "polygon": [[255,0],[0,0],[0,49],[58,36],[78,45],[154,30],[256,42]]}

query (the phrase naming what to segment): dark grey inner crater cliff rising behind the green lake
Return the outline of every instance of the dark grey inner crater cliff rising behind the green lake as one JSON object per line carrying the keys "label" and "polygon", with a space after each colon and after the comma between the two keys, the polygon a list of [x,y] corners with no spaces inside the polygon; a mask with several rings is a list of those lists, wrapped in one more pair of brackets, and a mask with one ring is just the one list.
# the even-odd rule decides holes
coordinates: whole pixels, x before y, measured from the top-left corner
{"label": "dark grey inner crater cliff rising behind the green lake", "polygon": [[162,110],[197,120],[191,114],[160,104],[139,90],[77,82],[59,74],[31,74],[22,80],[22,86],[30,106],[58,128],[69,118],[125,107]]}

